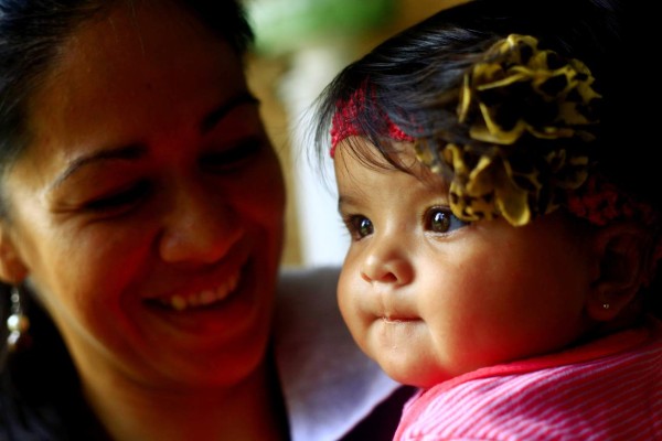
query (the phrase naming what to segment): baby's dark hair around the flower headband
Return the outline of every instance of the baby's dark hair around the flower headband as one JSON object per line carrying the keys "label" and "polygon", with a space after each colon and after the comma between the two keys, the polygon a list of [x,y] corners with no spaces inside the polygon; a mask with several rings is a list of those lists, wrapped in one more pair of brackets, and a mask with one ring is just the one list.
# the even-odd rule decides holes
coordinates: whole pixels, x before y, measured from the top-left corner
{"label": "baby's dark hair around the flower headband", "polygon": [[[440,11],[380,44],[329,84],[314,106],[317,153],[329,157],[339,104],[355,99],[357,90],[364,90],[365,99],[352,114],[352,123],[396,168],[406,171],[392,159],[389,121],[426,144],[439,139],[472,143],[457,116],[466,73],[495,42],[511,34],[531,35],[540,49],[579,60],[595,77],[601,99],[590,147],[592,172],[662,213],[656,154],[647,148],[654,112],[643,110],[651,98],[641,93],[642,69],[633,65],[633,49],[645,53],[643,46],[653,42],[644,35],[652,30],[637,20],[643,14],[632,0],[473,0]],[[364,154],[364,144],[349,147],[360,160],[375,163]],[[659,222],[655,228],[659,235]],[[659,267],[650,292],[659,291]],[[662,316],[660,295],[645,298],[647,309]]]}

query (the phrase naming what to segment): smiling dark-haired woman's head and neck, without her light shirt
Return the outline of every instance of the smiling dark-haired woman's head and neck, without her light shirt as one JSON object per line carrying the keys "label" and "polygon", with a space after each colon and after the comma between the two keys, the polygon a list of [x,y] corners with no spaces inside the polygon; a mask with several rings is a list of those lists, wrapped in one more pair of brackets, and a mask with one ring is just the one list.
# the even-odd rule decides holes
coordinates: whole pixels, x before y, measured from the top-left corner
{"label": "smiling dark-haired woman's head and neck, without her light shirt", "polygon": [[237,4],[0,11],[3,435],[288,439],[268,351],[285,192]]}

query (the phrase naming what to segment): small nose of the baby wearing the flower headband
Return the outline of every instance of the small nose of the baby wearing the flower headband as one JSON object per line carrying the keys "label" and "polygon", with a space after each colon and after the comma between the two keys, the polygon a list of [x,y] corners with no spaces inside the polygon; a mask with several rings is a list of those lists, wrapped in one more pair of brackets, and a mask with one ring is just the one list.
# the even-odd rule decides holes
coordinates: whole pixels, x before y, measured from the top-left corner
{"label": "small nose of the baby wearing the flower headband", "polygon": [[373,237],[363,262],[361,277],[367,282],[407,284],[414,277],[414,268],[402,240]]}

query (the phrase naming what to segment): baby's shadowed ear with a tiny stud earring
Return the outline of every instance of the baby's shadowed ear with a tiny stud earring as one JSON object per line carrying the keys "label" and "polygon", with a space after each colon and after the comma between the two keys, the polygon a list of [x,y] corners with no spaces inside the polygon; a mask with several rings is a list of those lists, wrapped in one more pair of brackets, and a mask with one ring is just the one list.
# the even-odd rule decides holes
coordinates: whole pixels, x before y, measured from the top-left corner
{"label": "baby's shadowed ear with a tiny stud earring", "polygon": [[596,271],[587,311],[598,321],[616,319],[648,280],[650,234],[640,225],[616,224],[594,237]]}

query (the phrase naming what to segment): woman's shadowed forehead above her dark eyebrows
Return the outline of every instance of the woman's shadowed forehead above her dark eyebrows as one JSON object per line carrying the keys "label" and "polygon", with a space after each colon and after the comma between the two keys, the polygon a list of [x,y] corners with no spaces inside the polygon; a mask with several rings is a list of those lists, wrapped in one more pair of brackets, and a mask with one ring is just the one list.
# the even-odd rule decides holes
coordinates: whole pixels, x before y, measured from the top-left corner
{"label": "woman's shadowed forehead above her dark eyebrows", "polygon": [[33,94],[32,144],[68,155],[173,138],[246,94],[238,55],[204,25],[172,7],[115,8],[73,34]]}

